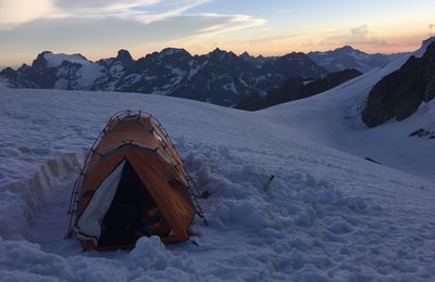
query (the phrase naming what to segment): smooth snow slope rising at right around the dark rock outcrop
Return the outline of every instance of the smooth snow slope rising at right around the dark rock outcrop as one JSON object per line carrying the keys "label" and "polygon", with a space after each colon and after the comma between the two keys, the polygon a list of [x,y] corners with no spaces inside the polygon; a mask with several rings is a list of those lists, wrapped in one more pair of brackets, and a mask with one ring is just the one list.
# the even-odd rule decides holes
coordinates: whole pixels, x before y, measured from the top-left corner
{"label": "smooth snow slope rising at right around the dark rock outcrop", "polygon": [[[423,55],[433,40],[435,38],[426,40],[413,54]],[[435,131],[435,101],[421,105],[418,113],[400,123],[390,120],[366,129],[360,119],[373,86],[397,70],[409,56],[322,94],[270,107],[259,114],[271,123],[282,124],[288,130],[327,146],[435,180],[435,142],[409,137],[420,128]]]}

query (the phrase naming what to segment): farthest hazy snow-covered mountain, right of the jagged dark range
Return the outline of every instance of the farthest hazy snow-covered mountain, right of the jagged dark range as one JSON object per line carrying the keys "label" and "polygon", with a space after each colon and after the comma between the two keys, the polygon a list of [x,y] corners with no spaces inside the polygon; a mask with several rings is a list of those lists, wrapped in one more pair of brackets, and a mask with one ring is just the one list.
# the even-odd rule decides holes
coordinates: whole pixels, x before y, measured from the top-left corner
{"label": "farthest hazy snow-covered mountain, right of the jagged dark range", "polygon": [[373,68],[383,66],[394,60],[405,55],[397,53],[391,55],[368,54],[350,46],[326,52],[311,52],[308,55],[319,65],[328,72],[338,72],[346,68],[355,68],[361,73],[366,73]]}

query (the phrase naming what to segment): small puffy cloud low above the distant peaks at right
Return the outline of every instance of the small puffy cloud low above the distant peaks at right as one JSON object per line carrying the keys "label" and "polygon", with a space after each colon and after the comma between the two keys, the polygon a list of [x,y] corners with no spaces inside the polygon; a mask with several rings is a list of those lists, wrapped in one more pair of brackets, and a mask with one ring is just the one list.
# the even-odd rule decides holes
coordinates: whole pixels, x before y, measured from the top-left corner
{"label": "small puffy cloud low above the distant peaks at right", "polygon": [[368,25],[362,25],[350,29],[350,33],[345,35],[335,35],[324,38],[321,44],[325,46],[388,46],[384,39],[373,35]]}

